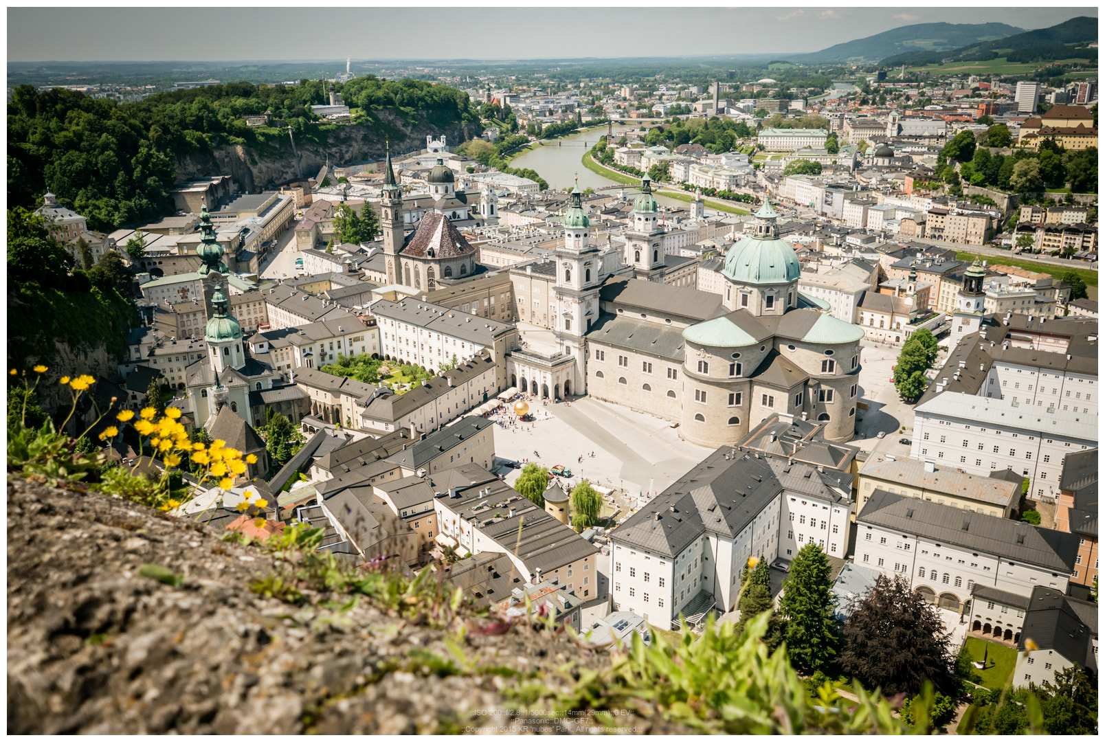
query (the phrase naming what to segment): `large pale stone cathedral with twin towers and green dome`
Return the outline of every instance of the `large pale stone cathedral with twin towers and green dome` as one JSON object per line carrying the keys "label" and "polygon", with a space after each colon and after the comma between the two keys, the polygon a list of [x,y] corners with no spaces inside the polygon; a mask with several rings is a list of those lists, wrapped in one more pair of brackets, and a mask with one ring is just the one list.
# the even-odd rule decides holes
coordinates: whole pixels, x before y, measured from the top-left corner
{"label": "large pale stone cathedral with twin towers and green dome", "polygon": [[775,413],[815,421],[830,441],[851,439],[863,330],[799,292],[798,256],[779,239],[770,203],[726,254],[720,296],[654,279],[663,258],[655,213],[645,179],[624,255],[601,261],[572,191],[556,253],[554,331],[575,362],[549,370],[508,358],[512,384],[648,412],[704,446],[735,444]]}

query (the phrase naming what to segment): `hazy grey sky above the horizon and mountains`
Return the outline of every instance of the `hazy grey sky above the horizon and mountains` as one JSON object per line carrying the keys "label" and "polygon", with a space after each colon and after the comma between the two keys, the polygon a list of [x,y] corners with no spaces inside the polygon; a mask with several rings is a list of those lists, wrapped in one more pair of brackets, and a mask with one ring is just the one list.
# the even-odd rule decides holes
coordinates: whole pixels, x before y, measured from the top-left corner
{"label": "hazy grey sky above the horizon and mountains", "polygon": [[[126,0],[123,0],[126,1]],[[1039,29],[1096,4],[1054,8],[8,8],[9,62],[524,60],[814,52],[912,23]],[[364,6],[365,3],[358,3]],[[516,3],[514,3],[516,4]],[[732,6],[732,3],[729,3]],[[912,4],[912,3],[911,3]],[[1012,6],[1012,7],[1010,7]]]}

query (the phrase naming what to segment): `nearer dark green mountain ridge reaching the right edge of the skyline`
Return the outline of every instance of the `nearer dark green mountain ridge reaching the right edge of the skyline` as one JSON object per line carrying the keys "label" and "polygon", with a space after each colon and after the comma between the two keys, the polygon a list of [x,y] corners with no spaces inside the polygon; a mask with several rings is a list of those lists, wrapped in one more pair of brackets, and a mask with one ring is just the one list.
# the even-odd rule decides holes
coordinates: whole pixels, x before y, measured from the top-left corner
{"label": "nearer dark green mountain ridge reaching the right edge of the skyline", "polygon": [[[916,26],[905,26],[916,28]],[[874,36],[872,36],[874,38]],[[938,64],[941,61],[979,61],[1004,56],[1010,62],[1034,62],[1069,57],[1097,57],[1097,50],[1085,50],[1085,44],[1097,41],[1097,19],[1080,15],[1046,29],[1025,31],[1001,39],[981,40],[951,51],[937,53],[911,51],[884,57],[880,64]],[[853,42],[854,43],[854,42]],[[1081,54],[1075,50],[1083,47]],[[828,51],[828,50],[827,50]]]}

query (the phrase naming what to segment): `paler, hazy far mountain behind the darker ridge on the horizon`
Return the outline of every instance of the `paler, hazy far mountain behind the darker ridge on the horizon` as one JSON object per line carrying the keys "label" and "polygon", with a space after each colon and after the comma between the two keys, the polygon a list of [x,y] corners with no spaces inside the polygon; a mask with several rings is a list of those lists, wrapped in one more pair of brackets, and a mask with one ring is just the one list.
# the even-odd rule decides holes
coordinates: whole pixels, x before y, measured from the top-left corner
{"label": "paler, hazy far mountain behind the darker ridge on the horizon", "polygon": [[[1096,28],[1096,19],[1094,20]],[[1004,23],[914,23],[856,39],[810,54],[787,59],[803,64],[882,60],[904,52],[945,52],[969,44],[1020,34],[1023,29]]]}

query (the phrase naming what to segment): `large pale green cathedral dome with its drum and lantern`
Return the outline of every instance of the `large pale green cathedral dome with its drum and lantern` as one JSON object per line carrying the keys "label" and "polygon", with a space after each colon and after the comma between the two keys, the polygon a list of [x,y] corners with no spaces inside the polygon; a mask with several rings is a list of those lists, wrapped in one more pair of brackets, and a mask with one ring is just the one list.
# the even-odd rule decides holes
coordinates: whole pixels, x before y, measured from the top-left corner
{"label": "large pale green cathedral dome with its drum and lantern", "polygon": [[729,247],[722,267],[726,309],[756,317],[778,316],[798,307],[801,265],[794,248],[779,239],[778,214],[767,200],[755,214],[751,233]]}

